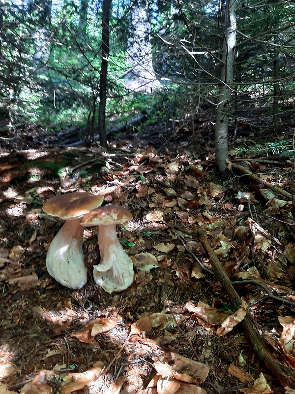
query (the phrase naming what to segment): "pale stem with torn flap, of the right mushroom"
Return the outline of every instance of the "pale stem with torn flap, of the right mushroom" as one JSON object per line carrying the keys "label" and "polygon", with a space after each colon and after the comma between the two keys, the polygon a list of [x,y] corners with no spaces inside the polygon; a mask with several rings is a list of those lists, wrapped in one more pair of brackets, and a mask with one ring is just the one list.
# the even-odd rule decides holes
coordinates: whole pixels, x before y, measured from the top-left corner
{"label": "pale stem with torn flap, of the right mushroom", "polygon": [[116,232],[116,225],[101,225],[98,230],[101,263],[93,266],[95,283],[106,292],[120,292],[133,282],[133,263],[124,252]]}

